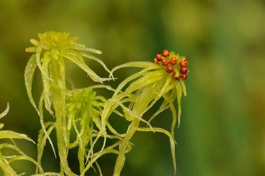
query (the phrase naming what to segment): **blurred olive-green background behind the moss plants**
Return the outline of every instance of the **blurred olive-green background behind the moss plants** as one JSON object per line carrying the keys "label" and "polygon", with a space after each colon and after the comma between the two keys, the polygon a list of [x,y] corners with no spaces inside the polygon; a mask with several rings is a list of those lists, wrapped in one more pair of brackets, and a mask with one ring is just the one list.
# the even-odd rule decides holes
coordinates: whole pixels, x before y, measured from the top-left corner
{"label": "blurred olive-green background behind the moss plants", "polygon": [[[23,71],[30,57],[24,49],[31,46],[29,39],[47,30],[80,36],[80,44],[103,51],[100,58],[109,68],[153,61],[164,48],[187,56],[191,73],[176,130],[177,176],[265,176],[263,0],[1,0],[0,110],[6,102],[11,105],[1,123],[4,129],[26,133],[35,141],[41,127],[24,87]],[[97,63],[88,61],[88,65],[107,76]],[[73,64],[66,71],[77,88],[95,84]],[[117,71],[118,80],[106,84],[115,88],[135,71]],[[40,82],[38,73],[33,87],[36,100]],[[153,126],[170,129],[171,120],[166,111]],[[120,131],[128,124],[119,117],[111,123]],[[17,141],[36,158],[34,144]],[[168,137],[138,132],[132,142],[135,146],[122,176],[173,175]],[[77,171],[75,152],[70,152],[69,163]],[[99,160],[104,176],[111,176],[115,157]],[[12,166],[26,175],[35,170],[26,161]],[[59,171],[49,144],[43,166],[45,171]]]}

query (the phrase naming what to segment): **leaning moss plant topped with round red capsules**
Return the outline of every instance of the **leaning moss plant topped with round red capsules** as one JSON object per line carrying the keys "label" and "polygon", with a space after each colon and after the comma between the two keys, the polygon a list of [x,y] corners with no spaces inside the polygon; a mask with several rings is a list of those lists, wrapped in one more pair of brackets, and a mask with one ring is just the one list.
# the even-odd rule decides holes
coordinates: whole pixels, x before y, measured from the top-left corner
{"label": "leaning moss plant topped with round red capsules", "polygon": [[[112,73],[123,67],[139,67],[143,68],[140,72],[132,74],[126,78],[117,87],[112,98],[110,98],[102,112],[102,133],[106,133],[106,125],[108,118],[113,110],[120,106],[124,111],[124,117],[131,121],[128,131],[122,140],[118,157],[116,160],[113,176],[120,176],[121,170],[125,162],[125,154],[130,145],[130,140],[136,131],[141,132],[163,132],[170,138],[171,152],[174,164],[174,171],[176,173],[176,159],[175,159],[175,141],[174,129],[177,122],[176,109],[174,101],[177,98],[178,105],[178,124],[180,124],[181,115],[181,95],[186,95],[186,88],[183,82],[187,78],[186,57],[182,57],[174,52],[164,50],[162,55],[157,54],[155,62],[131,62],[124,65],[116,66],[112,69]],[[129,82],[133,82],[129,84]],[[129,84],[123,92],[121,90]],[[148,121],[142,118],[143,114],[153,107],[153,105],[160,99],[164,101],[159,110]],[[123,105],[125,102],[130,102],[129,107]],[[173,122],[171,132],[162,128],[153,128],[150,121],[161,111],[170,108],[173,114]],[[140,127],[140,122],[146,123],[149,127]]]}

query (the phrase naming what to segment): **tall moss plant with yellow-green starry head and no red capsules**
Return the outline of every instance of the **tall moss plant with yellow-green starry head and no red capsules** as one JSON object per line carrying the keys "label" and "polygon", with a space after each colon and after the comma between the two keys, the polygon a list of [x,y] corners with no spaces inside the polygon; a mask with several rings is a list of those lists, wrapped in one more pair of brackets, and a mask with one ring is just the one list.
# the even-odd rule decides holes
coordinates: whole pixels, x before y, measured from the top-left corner
{"label": "tall moss plant with yellow-green starry head and no red capsules", "polygon": [[[111,80],[112,78],[100,78],[86,65],[84,57],[95,60],[104,66],[107,71],[110,72],[110,70],[100,59],[88,54],[88,52],[101,54],[101,51],[87,48],[83,44],[77,44],[76,40],[78,37],[71,37],[68,33],[54,31],[48,31],[38,35],[40,41],[31,39],[30,42],[35,46],[26,48],[27,52],[34,52],[35,54],[30,57],[24,74],[29,99],[38,111],[42,125],[38,146],[43,145],[47,138],[55,154],[55,149],[49,138],[49,133],[54,128],[57,134],[57,146],[61,162],[60,174],[63,175],[65,173],[68,176],[77,176],[71,171],[67,162],[69,135],[67,135],[66,117],[65,61],[76,64],[86,71],[93,81],[100,83]],[[31,93],[33,75],[37,67],[41,70],[43,81],[43,92],[39,101],[39,108],[37,108]],[[50,114],[53,115],[53,110],[55,111],[55,122],[44,123],[43,104]],[[43,147],[39,147],[39,162],[42,153]]]}

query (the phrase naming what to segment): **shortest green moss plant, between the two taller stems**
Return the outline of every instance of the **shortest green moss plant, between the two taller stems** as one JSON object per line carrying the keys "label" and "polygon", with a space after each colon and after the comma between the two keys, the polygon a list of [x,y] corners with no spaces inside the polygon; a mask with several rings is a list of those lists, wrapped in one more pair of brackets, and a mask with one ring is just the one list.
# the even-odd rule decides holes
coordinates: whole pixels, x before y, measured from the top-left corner
{"label": "shortest green moss plant, between the two taller stems", "polygon": [[[73,143],[69,143],[68,141],[67,145],[69,145],[69,148],[78,146],[80,173],[86,173],[87,171],[84,171],[85,157],[87,157],[87,162],[89,156],[90,159],[93,158],[93,146],[100,137],[98,132],[101,131],[101,113],[106,102],[103,96],[96,95],[96,92],[93,90],[94,88],[109,88],[110,90],[114,90],[108,86],[97,85],[89,88],[73,89],[67,93],[67,135],[70,135],[70,129],[72,127],[76,132],[76,140]],[[115,112],[122,115],[118,111]],[[93,140],[93,137],[96,138]],[[118,138],[115,135],[108,135],[108,137]],[[88,144],[90,145],[89,149]],[[96,161],[92,161],[92,163],[94,162]],[[97,163],[96,166],[100,171]]]}

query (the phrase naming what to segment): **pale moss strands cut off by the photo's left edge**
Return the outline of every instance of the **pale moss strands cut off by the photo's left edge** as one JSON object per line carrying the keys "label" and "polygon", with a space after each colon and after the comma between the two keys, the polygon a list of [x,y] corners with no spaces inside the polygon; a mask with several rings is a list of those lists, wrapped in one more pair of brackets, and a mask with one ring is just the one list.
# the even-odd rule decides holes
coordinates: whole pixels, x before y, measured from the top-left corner
{"label": "pale moss strands cut off by the photo's left edge", "polygon": [[[7,104],[6,110],[4,110],[0,114],[0,118],[4,117],[9,111],[9,104]],[[0,124],[0,129],[2,129],[4,124]],[[31,141],[35,144],[35,142],[30,139],[26,134],[21,134],[13,131],[8,131],[8,130],[0,130],[0,139],[10,139],[13,144],[8,144],[8,143],[2,143],[0,144],[0,151],[3,148],[9,148],[14,151],[16,151],[19,155],[12,155],[12,156],[5,156],[0,152],[0,167],[4,173],[4,176],[19,176],[9,165],[10,163],[16,161],[16,160],[28,160],[32,163],[34,163],[38,169],[40,169],[43,172],[43,169],[41,165],[37,161],[35,161],[33,158],[27,156],[24,154],[16,145],[15,141],[13,139],[25,139],[28,141]]]}

